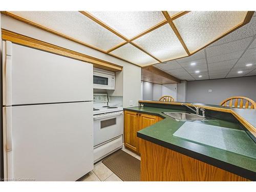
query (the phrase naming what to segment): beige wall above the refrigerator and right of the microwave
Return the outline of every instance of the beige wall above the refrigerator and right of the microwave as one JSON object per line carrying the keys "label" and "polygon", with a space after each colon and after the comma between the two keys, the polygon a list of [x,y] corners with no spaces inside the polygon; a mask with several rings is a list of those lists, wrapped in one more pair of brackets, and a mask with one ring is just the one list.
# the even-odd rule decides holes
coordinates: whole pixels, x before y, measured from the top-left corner
{"label": "beige wall above the refrigerator and right of the microwave", "polygon": [[[112,57],[96,51],[94,49],[82,46],[71,40],[59,37],[47,31],[38,29],[31,25],[20,22],[16,19],[1,15],[2,29],[13,31],[19,34],[23,34],[38,40],[49,42],[50,44],[57,45],[63,48],[67,48],[79,53],[87,54],[93,57],[97,57],[109,62],[116,63],[123,66],[123,72],[117,76],[118,82],[116,83],[117,90],[112,92],[112,95],[123,96],[123,106],[130,105],[130,101],[133,101],[133,105],[138,105],[138,100],[141,98],[140,81],[141,81],[141,68],[132,65],[129,62],[125,62],[118,58]],[[123,82],[120,79],[123,78]]]}

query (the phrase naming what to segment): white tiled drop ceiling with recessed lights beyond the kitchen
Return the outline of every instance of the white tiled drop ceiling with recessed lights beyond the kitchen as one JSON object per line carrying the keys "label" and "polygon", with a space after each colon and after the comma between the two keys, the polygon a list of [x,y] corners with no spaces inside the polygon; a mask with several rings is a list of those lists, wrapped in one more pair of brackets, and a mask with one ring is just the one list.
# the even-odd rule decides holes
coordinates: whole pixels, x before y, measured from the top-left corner
{"label": "white tiled drop ceiling with recessed lights beyond the kitchen", "polygon": [[256,75],[256,13],[250,23],[194,55],[154,66],[188,81]]}

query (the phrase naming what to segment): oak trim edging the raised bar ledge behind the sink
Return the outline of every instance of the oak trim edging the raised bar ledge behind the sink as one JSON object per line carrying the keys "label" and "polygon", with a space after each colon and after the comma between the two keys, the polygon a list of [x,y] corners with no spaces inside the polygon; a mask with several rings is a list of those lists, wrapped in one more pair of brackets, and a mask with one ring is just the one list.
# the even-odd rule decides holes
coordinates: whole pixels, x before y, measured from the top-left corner
{"label": "oak trim edging the raised bar ledge behind the sink", "polygon": [[[181,102],[163,102],[163,101],[144,101],[144,100],[139,100],[138,102],[144,102],[144,103],[158,103],[158,104],[174,104],[174,105],[182,105]],[[193,106],[189,103],[187,103],[188,106]],[[225,112],[225,113],[231,113],[234,117],[237,118],[239,122],[241,122],[246,129],[254,136],[256,137],[256,127],[254,127],[252,124],[250,124],[248,121],[246,121],[243,117],[241,117],[239,114],[234,112],[232,109],[227,109],[227,108],[218,108],[216,106],[205,106],[205,105],[198,105],[196,104],[199,108],[204,108],[206,110],[212,110],[212,111],[220,111],[220,112]]]}

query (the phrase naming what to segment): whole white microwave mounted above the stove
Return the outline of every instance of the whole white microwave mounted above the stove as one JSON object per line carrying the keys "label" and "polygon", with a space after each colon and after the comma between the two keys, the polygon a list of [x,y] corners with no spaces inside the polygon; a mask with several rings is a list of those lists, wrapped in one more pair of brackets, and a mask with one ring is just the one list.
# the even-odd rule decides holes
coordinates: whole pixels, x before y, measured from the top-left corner
{"label": "whole white microwave mounted above the stove", "polygon": [[115,72],[93,68],[93,88],[115,90]]}

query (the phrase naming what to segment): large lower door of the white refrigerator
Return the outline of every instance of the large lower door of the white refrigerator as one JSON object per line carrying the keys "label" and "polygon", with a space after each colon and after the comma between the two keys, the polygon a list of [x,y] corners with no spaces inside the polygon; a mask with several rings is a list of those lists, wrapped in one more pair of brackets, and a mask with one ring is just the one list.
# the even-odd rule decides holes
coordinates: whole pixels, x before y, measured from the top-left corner
{"label": "large lower door of the white refrigerator", "polygon": [[75,181],[89,173],[92,109],[92,102],[5,107],[5,178]]}

